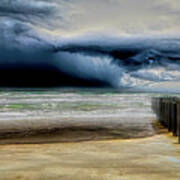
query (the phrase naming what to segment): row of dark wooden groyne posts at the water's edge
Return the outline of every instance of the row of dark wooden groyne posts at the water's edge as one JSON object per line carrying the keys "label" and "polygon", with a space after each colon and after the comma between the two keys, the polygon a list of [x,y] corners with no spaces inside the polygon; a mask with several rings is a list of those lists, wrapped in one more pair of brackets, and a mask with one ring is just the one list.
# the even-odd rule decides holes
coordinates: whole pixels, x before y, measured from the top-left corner
{"label": "row of dark wooden groyne posts at the water's edge", "polygon": [[152,109],[157,114],[160,123],[168,128],[173,136],[178,136],[180,143],[180,98],[153,98]]}

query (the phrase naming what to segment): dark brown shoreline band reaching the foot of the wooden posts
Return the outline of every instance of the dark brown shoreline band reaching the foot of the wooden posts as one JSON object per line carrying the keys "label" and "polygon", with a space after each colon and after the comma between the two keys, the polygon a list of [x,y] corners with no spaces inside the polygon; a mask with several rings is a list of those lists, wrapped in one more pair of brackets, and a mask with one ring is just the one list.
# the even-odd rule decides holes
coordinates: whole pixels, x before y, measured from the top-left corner
{"label": "dark brown shoreline band reaching the foot of the wooden posts", "polygon": [[[2,144],[46,144],[61,142],[86,142],[115,139],[138,139],[152,137],[158,134],[168,133],[159,123],[152,122],[146,127],[138,127],[123,124],[81,124],[52,129],[38,129],[25,131],[6,131],[0,133],[0,145]],[[150,126],[153,127],[153,129]]]}

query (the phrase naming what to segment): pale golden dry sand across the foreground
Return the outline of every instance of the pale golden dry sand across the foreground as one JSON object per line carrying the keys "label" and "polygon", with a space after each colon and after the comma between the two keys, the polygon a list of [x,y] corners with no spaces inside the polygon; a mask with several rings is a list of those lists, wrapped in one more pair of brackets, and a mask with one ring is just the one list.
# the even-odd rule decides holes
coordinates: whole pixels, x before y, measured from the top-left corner
{"label": "pale golden dry sand across the foreground", "polygon": [[180,145],[169,135],[133,140],[0,145],[0,179],[179,180]]}

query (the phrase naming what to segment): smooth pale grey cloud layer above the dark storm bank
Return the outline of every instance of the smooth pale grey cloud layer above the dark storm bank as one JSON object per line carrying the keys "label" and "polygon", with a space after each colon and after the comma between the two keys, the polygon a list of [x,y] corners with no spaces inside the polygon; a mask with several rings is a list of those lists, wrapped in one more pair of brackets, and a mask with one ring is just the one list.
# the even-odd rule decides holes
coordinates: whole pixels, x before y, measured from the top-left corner
{"label": "smooth pale grey cloud layer above the dark storm bank", "polygon": [[[83,34],[108,32],[123,34],[160,34],[176,31],[180,6],[168,0],[56,0],[62,7],[63,22],[57,21],[60,33]],[[180,4],[180,3],[179,3]],[[174,25],[174,27],[172,27]]]}

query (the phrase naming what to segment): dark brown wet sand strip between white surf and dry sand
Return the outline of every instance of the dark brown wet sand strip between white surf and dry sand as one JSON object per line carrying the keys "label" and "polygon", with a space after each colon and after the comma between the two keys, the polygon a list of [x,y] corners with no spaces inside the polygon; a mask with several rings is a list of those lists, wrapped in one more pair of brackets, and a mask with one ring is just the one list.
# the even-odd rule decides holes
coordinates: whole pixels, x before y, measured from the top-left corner
{"label": "dark brown wet sand strip between white surf and dry sand", "polygon": [[[56,124],[55,120],[52,121]],[[41,122],[43,123],[43,120],[41,120]],[[109,118],[103,118],[95,122],[86,118],[82,121],[77,119],[72,123],[72,119],[67,119],[66,121],[57,123],[57,127],[59,128],[24,128],[18,131],[5,128],[0,132],[0,145],[143,138],[153,136],[163,131],[157,127],[156,123],[155,120],[143,123],[132,123],[128,120],[124,122],[117,118],[111,120],[109,120]],[[8,127],[8,125],[9,124],[7,124],[6,127]]]}

